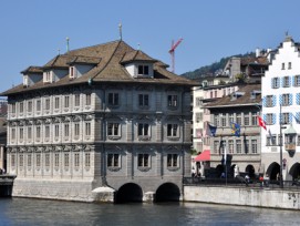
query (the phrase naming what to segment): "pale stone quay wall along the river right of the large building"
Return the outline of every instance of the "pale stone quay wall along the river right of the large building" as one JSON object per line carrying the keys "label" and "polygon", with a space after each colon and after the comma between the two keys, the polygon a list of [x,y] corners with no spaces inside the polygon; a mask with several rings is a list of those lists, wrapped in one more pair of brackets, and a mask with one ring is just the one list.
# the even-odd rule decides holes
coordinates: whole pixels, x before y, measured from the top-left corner
{"label": "pale stone quay wall along the river right of the large building", "polygon": [[300,191],[184,186],[184,202],[300,209]]}

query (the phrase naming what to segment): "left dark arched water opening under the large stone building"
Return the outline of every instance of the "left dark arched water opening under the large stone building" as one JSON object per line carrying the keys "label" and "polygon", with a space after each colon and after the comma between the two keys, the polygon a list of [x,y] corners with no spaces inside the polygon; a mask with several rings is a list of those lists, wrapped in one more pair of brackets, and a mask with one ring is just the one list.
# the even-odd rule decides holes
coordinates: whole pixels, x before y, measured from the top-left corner
{"label": "left dark arched water opening under the large stone building", "polygon": [[115,194],[115,203],[142,203],[143,202],[143,191],[142,188],[134,184],[124,184]]}

